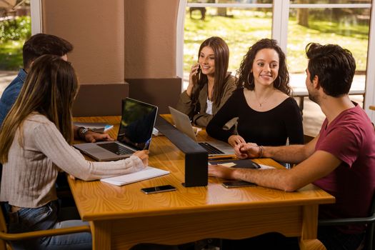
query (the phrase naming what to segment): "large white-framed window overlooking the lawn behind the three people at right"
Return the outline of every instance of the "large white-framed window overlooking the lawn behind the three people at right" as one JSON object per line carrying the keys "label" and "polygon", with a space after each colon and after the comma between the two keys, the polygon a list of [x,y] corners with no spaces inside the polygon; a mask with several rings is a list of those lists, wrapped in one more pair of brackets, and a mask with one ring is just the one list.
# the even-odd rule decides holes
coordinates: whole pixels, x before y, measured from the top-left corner
{"label": "large white-framed window overlooking the lawn behind the three people at right", "polygon": [[366,74],[375,74],[368,67],[371,5],[371,0],[188,0],[184,78],[197,60],[199,45],[210,36],[221,36],[229,44],[232,74],[254,41],[276,39],[286,52],[290,84],[304,109],[304,129],[315,135],[324,114],[306,98],[306,44],[339,44],[354,54],[357,68],[350,94],[364,105]]}

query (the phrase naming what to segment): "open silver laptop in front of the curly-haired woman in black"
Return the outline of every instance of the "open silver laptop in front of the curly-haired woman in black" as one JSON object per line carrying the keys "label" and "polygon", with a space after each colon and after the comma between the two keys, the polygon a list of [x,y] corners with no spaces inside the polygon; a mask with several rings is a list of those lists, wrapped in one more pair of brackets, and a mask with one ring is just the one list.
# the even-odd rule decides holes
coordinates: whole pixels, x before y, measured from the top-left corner
{"label": "open silver laptop in front of the curly-haired woman in black", "polygon": [[196,141],[196,143],[201,145],[204,149],[206,149],[209,152],[209,157],[234,154],[234,149],[224,141],[216,140],[198,142],[196,140],[196,134],[194,133],[193,126],[191,126],[189,116],[178,111],[177,109],[172,108],[171,106],[169,106],[169,111],[171,112],[176,128],[179,129],[179,131],[181,131],[182,133],[186,134],[186,136],[189,136],[191,139]]}

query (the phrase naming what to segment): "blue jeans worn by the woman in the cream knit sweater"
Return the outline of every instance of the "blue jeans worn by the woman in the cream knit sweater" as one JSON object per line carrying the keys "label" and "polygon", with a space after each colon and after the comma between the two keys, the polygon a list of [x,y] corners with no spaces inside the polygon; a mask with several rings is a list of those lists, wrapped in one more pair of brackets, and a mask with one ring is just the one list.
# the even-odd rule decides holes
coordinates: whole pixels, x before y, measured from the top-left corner
{"label": "blue jeans worn by the woman in the cream knit sweater", "polygon": [[[21,233],[27,231],[37,231],[44,229],[60,229],[69,226],[87,225],[80,220],[57,221],[59,206],[57,201],[51,201],[49,204],[37,209],[20,209],[16,212],[9,212],[9,232]],[[49,236],[27,241],[12,241],[13,249],[91,249],[91,234],[66,234],[59,236]]]}

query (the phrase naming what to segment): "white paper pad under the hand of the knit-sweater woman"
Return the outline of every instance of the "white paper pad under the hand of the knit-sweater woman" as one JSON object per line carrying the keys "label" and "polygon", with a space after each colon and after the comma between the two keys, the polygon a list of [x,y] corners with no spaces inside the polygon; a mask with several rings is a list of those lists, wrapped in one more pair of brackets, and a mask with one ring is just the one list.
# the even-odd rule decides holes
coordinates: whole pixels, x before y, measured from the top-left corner
{"label": "white paper pad under the hand of the knit-sweater woman", "polygon": [[109,184],[114,184],[116,186],[122,186],[125,184],[134,183],[136,181],[143,181],[146,179],[163,176],[165,174],[169,174],[169,171],[156,169],[151,166],[147,166],[146,169],[135,172],[135,173],[124,174],[121,176],[114,176],[110,178],[104,178],[104,179],[101,179],[101,181],[104,181]]}

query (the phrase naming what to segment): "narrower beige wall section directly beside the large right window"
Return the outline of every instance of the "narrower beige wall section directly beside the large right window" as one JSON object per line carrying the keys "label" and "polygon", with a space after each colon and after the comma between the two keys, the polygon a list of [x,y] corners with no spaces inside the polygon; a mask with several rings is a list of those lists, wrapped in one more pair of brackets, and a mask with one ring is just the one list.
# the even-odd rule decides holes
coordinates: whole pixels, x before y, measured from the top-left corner
{"label": "narrower beige wall section directly beside the large right window", "polygon": [[125,79],[176,76],[179,0],[125,1]]}

